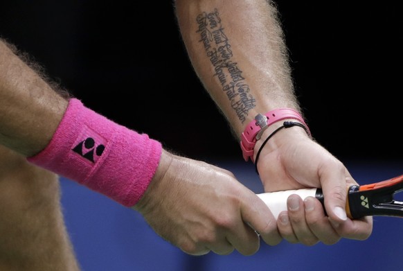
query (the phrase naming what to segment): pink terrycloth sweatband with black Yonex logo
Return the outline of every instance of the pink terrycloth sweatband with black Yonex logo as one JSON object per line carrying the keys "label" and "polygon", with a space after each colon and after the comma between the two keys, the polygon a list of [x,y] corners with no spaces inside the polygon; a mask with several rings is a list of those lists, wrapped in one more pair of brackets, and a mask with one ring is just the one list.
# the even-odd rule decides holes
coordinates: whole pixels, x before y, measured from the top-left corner
{"label": "pink terrycloth sweatband with black Yonex logo", "polygon": [[161,143],[93,112],[72,98],[51,142],[31,163],[132,207],[147,189]]}

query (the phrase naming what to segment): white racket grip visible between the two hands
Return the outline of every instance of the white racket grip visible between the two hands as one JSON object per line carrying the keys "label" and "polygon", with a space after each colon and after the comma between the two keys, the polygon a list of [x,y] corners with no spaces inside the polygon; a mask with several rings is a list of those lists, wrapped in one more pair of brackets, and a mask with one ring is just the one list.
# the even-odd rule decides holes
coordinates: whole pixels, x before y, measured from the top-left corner
{"label": "white racket grip visible between the two hands", "polygon": [[273,216],[277,219],[280,212],[287,211],[287,198],[289,195],[296,194],[304,200],[309,196],[314,197],[316,195],[316,190],[317,189],[296,189],[260,193],[257,195],[261,200],[263,200],[263,202],[265,202],[271,213],[273,213]]}

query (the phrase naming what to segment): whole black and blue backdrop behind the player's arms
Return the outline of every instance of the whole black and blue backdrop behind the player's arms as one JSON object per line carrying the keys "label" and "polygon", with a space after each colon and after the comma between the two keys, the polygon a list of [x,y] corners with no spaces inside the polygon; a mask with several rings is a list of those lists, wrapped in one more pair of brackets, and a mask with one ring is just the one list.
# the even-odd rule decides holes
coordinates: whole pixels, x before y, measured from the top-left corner
{"label": "whole black and blue backdrop behind the player's arms", "polygon": [[[398,1],[276,3],[296,94],[316,140],[352,159],[348,168],[360,183],[401,174]],[[0,36],[93,110],[183,155],[226,158],[220,166],[262,189],[189,65],[171,1],[0,1]],[[249,257],[194,257],[163,241],[140,213],[76,182],[62,178],[61,184],[66,227],[86,271],[402,268],[399,218],[375,218],[365,242],[343,238],[306,247],[283,241],[262,244]]]}

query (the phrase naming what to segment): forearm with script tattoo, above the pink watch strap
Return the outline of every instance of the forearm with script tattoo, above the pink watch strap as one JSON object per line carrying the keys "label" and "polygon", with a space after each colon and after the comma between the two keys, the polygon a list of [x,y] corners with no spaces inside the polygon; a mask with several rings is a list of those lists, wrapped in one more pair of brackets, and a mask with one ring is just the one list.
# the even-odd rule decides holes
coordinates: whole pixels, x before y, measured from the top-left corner
{"label": "forearm with script tattoo, above the pink watch strap", "polygon": [[276,8],[266,0],[177,0],[193,67],[240,137],[256,114],[299,110]]}

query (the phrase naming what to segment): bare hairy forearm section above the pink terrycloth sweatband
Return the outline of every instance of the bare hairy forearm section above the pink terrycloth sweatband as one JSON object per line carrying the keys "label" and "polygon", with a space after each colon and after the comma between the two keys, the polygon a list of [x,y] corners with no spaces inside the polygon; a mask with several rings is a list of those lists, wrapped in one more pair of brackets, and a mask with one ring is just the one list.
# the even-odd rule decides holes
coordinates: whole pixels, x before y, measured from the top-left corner
{"label": "bare hairy forearm section above the pink terrycloth sweatband", "polygon": [[46,147],[67,100],[0,40],[0,143],[22,155]]}

